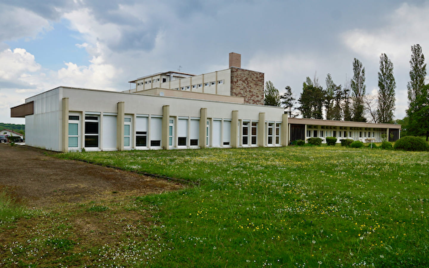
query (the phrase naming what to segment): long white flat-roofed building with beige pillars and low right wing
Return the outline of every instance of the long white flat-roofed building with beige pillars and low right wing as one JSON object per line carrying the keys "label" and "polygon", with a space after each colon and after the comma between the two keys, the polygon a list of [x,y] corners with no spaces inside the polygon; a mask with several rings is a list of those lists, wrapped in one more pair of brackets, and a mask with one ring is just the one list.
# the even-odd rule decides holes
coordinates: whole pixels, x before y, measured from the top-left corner
{"label": "long white flat-roofed building with beige pillars and low right wing", "polygon": [[202,75],[162,72],[130,82],[136,88],[124,92],[57,87],[12,107],[11,116],[25,117],[27,145],[64,152],[274,147],[315,135],[335,136],[343,127],[377,133],[400,128],[288,122],[283,108],[263,105],[263,73],[240,68],[236,53],[230,54],[229,69]]}

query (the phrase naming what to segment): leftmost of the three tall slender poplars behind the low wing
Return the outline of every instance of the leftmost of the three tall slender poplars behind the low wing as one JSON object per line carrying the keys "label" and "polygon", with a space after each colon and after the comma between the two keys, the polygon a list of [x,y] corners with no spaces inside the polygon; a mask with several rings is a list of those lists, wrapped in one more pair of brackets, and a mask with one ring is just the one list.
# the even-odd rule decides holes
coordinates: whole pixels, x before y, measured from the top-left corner
{"label": "leftmost of the three tall slender poplars behind the low wing", "polygon": [[353,60],[353,78],[350,81],[350,86],[353,94],[353,121],[366,122],[363,116],[364,105],[363,96],[365,95],[365,68],[362,63],[354,58]]}

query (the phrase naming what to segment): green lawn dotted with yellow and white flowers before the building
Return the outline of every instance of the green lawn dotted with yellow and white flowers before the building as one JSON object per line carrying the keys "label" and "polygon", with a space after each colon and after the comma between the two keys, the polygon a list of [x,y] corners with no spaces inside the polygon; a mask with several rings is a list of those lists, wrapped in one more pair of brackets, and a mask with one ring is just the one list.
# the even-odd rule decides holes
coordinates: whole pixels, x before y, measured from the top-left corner
{"label": "green lawn dotted with yellow and white flowers before the building", "polygon": [[[198,186],[40,211],[31,219],[37,232],[7,244],[0,264],[429,267],[428,152],[325,146],[60,157]],[[87,241],[78,217],[125,220],[110,226],[114,239]],[[57,229],[44,229],[49,219]]]}

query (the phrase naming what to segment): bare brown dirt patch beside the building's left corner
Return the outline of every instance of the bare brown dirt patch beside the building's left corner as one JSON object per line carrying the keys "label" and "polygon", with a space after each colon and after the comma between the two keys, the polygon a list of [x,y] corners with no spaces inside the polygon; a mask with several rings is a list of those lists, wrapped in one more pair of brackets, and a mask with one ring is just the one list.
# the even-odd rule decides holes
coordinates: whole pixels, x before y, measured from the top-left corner
{"label": "bare brown dirt patch beside the building's left corner", "polygon": [[183,188],[181,184],[132,172],[57,159],[46,152],[0,144],[0,191],[6,187],[18,200],[39,208],[58,202],[137,196]]}

